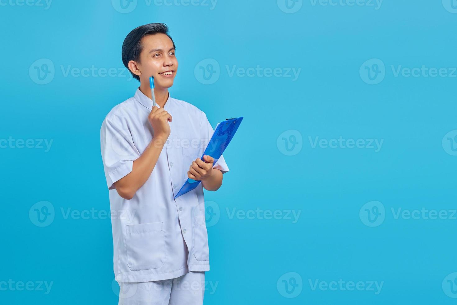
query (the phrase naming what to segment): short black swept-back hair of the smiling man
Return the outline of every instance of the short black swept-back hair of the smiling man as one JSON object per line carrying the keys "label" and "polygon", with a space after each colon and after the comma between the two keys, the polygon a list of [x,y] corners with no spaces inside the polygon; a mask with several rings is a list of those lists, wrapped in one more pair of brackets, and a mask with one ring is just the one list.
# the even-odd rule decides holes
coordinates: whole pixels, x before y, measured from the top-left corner
{"label": "short black swept-back hair of the smiling man", "polygon": [[[124,43],[122,43],[122,63],[124,63],[124,66],[128,69],[128,62],[130,60],[140,62],[140,54],[141,51],[143,51],[141,39],[146,35],[165,34],[171,39],[173,48],[176,49],[173,39],[168,34],[169,32],[170,30],[165,23],[149,23],[139,26],[128,33],[127,37],[124,39]],[[128,70],[130,71],[130,69]],[[132,73],[132,71],[130,71],[130,73]],[[132,73],[132,76],[140,81],[138,75]]]}

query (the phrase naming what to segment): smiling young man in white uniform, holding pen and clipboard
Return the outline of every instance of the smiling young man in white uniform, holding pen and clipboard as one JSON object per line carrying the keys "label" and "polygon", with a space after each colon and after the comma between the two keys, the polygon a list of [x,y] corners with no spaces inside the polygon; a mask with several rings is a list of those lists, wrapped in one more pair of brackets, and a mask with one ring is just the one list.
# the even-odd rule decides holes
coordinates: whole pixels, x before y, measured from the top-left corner
{"label": "smiling young man in white uniform, holding pen and clipboard", "polygon": [[[140,86],[101,126],[119,304],[202,304],[209,270],[203,187],[216,191],[228,171],[223,156],[216,164],[199,159],[214,132],[205,113],[168,92],[178,70],[168,33],[150,23],[127,35],[122,61]],[[187,178],[202,183],[174,199]]]}

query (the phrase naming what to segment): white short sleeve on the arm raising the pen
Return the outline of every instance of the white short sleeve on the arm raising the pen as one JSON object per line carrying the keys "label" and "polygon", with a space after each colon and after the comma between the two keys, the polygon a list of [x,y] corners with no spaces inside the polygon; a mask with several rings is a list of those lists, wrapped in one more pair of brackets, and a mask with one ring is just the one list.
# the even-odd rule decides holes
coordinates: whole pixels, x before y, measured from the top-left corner
{"label": "white short sleeve on the arm raising the pen", "polygon": [[100,146],[106,184],[114,189],[114,182],[128,175],[133,161],[140,156],[133,144],[130,129],[122,118],[106,118],[100,129]]}

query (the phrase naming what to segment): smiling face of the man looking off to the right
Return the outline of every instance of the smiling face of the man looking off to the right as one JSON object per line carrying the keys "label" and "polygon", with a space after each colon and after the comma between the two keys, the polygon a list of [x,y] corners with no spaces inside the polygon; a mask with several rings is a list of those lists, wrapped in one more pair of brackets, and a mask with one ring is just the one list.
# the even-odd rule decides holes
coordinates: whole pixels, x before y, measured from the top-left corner
{"label": "smiling face of the man looking off to the right", "polygon": [[154,86],[170,88],[173,86],[178,60],[170,37],[165,34],[144,36],[142,39],[143,50],[140,54],[138,69],[141,71],[141,83],[149,84],[149,77],[154,76]]}

